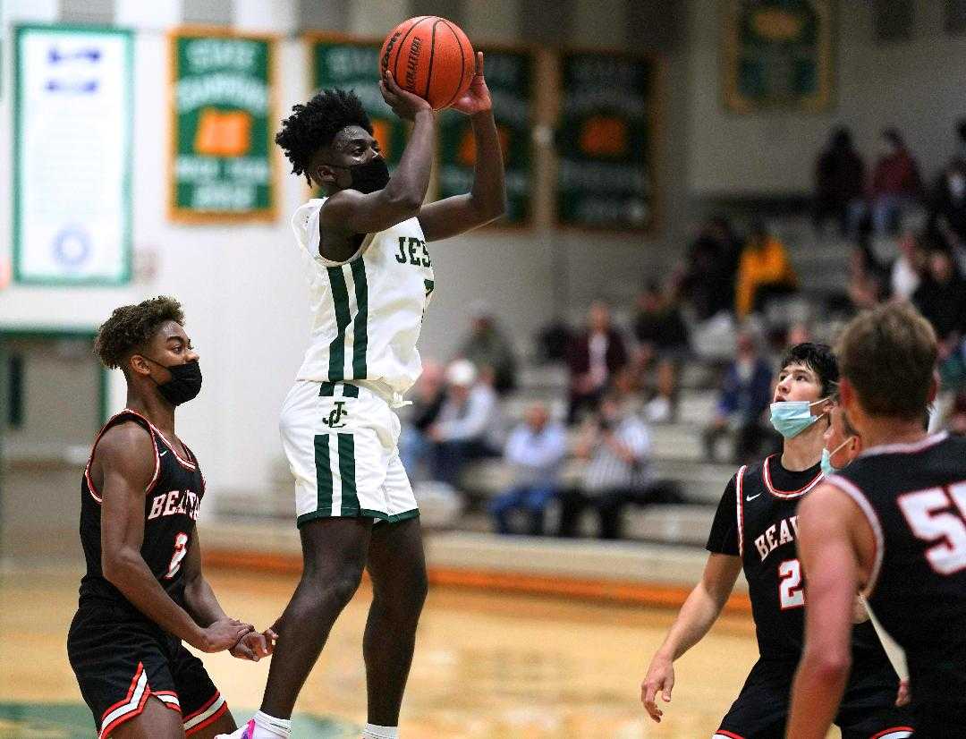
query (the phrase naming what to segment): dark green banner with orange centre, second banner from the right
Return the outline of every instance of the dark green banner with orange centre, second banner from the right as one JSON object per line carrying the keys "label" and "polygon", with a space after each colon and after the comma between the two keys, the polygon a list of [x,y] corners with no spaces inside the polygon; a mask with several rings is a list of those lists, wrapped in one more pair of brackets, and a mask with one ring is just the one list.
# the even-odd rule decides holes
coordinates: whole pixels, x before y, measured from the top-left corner
{"label": "dark green banner with orange centre, second banner from the right", "polygon": [[642,229],[654,220],[656,63],[615,52],[560,59],[557,221]]}

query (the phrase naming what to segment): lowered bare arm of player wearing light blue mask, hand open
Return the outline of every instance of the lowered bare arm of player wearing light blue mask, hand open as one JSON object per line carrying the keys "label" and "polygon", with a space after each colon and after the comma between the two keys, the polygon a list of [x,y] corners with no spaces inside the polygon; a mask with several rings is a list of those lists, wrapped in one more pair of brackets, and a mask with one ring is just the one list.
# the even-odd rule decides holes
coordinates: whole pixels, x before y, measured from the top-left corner
{"label": "lowered bare arm of player wearing light blue mask, hand open", "polygon": [[648,715],[661,723],[664,712],[658,707],[657,694],[670,702],[674,687],[674,661],[704,638],[718,620],[741,572],[741,557],[709,554],[701,582],[695,585],[678,612],[661,648],[651,659],[640,685],[640,700]]}

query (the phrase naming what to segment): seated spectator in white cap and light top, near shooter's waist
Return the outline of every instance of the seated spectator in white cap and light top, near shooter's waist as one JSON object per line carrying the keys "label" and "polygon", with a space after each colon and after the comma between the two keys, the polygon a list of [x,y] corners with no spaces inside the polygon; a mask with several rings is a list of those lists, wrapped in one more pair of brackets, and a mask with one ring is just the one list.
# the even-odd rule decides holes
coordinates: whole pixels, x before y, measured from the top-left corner
{"label": "seated spectator in white cap and light top, near shooter's waist", "polygon": [[476,371],[472,362],[457,359],[446,370],[446,399],[427,436],[434,480],[459,487],[467,463],[497,456],[499,431],[493,373]]}

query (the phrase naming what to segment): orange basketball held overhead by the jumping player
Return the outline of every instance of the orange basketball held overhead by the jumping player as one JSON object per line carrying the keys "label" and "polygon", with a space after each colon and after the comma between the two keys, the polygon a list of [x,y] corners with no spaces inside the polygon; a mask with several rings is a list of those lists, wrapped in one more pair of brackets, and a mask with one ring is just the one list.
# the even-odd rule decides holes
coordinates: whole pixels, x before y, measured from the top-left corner
{"label": "orange basketball held overhead by the jumping player", "polygon": [[434,110],[449,107],[467,91],[476,66],[467,35],[439,15],[404,20],[385,38],[379,59],[380,76],[390,71],[396,84]]}

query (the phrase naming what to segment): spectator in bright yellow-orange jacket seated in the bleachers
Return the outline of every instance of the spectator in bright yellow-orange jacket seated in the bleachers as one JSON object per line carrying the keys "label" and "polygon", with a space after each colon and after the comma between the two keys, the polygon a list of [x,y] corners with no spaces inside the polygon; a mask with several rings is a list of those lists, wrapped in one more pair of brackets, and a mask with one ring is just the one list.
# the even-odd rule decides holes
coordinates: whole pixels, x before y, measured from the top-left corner
{"label": "spectator in bright yellow-orange jacket seated in the bleachers", "polygon": [[784,244],[768,233],[764,223],[754,221],[738,265],[735,315],[739,320],[748,318],[762,311],[769,299],[797,289],[798,277],[788,262]]}

